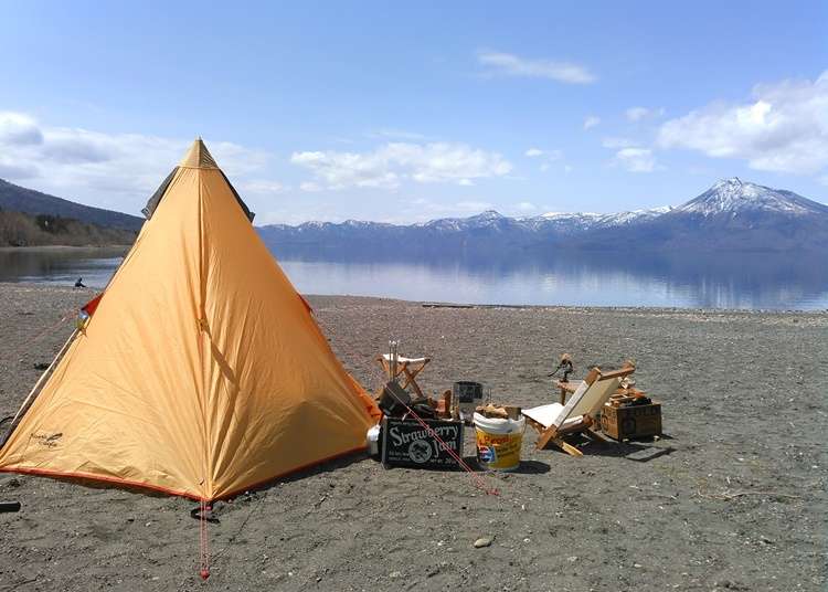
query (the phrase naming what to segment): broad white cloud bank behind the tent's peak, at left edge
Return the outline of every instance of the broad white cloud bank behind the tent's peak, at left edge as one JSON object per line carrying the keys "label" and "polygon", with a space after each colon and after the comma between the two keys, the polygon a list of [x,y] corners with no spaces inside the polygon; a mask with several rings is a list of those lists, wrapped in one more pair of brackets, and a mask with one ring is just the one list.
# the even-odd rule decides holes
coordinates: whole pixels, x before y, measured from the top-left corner
{"label": "broad white cloud bank behind the tent's peak, at left edge", "polygon": [[[0,177],[66,199],[137,213],[179,162],[192,139],[104,134],[41,125],[28,114],[0,113]],[[272,156],[227,141],[208,141],[224,171],[240,186],[263,189]],[[275,183],[275,184],[274,184]]]}

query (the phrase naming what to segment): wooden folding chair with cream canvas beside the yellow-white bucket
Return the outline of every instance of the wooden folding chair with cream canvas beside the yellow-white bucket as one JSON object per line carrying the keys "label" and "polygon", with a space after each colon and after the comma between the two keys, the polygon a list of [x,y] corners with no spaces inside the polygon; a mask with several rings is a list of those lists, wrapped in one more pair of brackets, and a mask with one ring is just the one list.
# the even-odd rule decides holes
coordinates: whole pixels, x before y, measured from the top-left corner
{"label": "wooden folding chair with cream canvas beside the yellow-white bucket", "polygon": [[584,434],[594,440],[605,440],[593,430],[597,425],[601,409],[618,390],[622,379],[635,372],[635,366],[627,362],[620,370],[602,372],[593,368],[575,389],[566,404],[550,403],[524,409],[527,422],[538,432],[538,450],[552,443],[572,456],[583,456],[575,446],[563,438],[571,434]]}

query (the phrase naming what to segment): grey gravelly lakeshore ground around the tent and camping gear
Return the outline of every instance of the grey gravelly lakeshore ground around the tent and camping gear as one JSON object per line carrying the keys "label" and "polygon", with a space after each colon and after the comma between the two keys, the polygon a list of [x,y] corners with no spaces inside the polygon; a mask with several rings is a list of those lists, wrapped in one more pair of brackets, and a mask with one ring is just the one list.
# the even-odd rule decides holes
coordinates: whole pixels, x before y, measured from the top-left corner
{"label": "grey gravelly lakeshore ground around the tent and camping gear", "polygon": [[[0,416],[91,294],[0,284]],[[828,314],[310,302],[370,389],[390,337],[434,358],[427,390],[477,380],[523,406],[554,400],[560,352],[578,376],[635,358],[669,437],[572,458],[528,432],[522,469],[485,476],[498,497],[464,473],[329,464],[221,504],[206,583],[192,503],[2,474],[0,500],[23,509],[0,514],[0,591],[825,589]],[[661,455],[628,457],[645,447]],[[475,549],[484,536],[492,545]]]}

